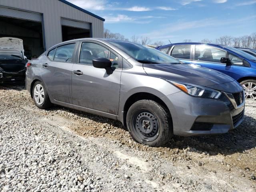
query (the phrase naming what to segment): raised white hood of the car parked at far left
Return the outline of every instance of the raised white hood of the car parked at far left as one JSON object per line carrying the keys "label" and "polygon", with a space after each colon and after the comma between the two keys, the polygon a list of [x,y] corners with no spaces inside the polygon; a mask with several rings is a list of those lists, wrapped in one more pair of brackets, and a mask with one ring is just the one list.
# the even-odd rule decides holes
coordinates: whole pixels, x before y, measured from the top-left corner
{"label": "raised white hood of the car parked at far left", "polygon": [[13,37],[0,38],[0,54],[17,55],[24,58],[23,40]]}

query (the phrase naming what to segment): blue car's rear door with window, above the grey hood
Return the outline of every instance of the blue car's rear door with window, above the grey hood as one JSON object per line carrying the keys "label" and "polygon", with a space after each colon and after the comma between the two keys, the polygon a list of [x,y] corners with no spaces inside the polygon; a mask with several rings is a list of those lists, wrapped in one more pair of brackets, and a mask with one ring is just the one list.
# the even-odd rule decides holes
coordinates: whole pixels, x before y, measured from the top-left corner
{"label": "blue car's rear door with window, above the grey hood", "polygon": [[172,47],[170,55],[181,62],[192,63],[192,46],[191,45],[175,45]]}

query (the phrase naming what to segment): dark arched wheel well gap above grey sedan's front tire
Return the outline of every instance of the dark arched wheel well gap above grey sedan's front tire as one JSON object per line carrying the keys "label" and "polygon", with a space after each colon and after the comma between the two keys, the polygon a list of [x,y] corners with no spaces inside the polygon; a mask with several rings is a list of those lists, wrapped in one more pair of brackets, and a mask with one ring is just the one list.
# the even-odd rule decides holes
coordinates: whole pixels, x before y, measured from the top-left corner
{"label": "dark arched wheel well gap above grey sedan's front tire", "polygon": [[160,104],[164,110],[170,115],[171,117],[171,113],[168,109],[168,107],[166,106],[166,104],[157,96],[153,95],[153,94],[150,94],[150,93],[146,93],[146,92],[140,92],[140,93],[136,93],[136,94],[133,94],[132,96],[130,96],[128,98],[128,100],[126,100],[125,104],[124,104],[124,126],[126,126],[126,114],[130,108],[130,106],[132,106],[132,104],[134,104],[135,102],[139,101],[139,100],[152,100],[152,101],[155,101],[157,102],[158,104]]}

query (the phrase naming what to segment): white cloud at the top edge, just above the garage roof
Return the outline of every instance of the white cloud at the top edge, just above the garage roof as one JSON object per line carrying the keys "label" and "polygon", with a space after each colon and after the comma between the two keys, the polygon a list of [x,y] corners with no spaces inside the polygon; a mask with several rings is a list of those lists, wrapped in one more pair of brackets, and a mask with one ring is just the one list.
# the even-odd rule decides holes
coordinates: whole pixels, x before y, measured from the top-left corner
{"label": "white cloud at the top edge, just above the garage roof", "polygon": [[105,10],[106,0],[68,0],[78,7],[88,10]]}

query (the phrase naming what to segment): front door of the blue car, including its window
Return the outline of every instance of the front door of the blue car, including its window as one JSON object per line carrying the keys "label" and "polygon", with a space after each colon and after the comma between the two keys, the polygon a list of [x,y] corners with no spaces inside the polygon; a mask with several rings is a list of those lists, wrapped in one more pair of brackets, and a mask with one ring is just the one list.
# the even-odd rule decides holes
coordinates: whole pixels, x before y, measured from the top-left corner
{"label": "front door of the blue car, including its window", "polygon": [[227,66],[220,62],[222,57],[227,57],[227,52],[225,50],[207,45],[195,45],[194,50],[192,64],[214,69],[232,77],[233,66]]}

